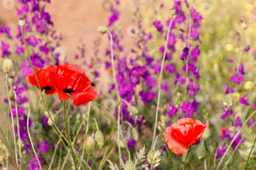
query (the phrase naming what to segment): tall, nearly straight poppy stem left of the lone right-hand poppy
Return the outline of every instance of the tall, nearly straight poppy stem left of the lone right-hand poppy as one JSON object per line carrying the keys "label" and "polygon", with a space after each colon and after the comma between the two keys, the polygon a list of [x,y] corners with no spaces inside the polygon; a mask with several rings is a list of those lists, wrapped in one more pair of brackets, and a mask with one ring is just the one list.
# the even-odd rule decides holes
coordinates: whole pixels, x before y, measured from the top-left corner
{"label": "tall, nearly straight poppy stem left of the lone right-hand poppy", "polygon": [[155,143],[155,133],[156,133],[158,110],[159,110],[159,103],[160,103],[160,93],[161,93],[161,79],[162,79],[163,65],[164,65],[165,55],[166,55],[166,51],[167,51],[168,39],[169,39],[170,30],[171,30],[171,25],[172,25],[172,22],[173,22],[173,17],[174,16],[172,15],[171,21],[170,21],[170,24],[169,24],[169,27],[168,27],[168,31],[167,31],[166,43],[165,43],[165,48],[164,48],[164,54],[163,54],[163,59],[162,59],[160,75],[159,75],[158,98],[157,98],[157,105],[156,105],[156,112],[155,112],[155,127],[154,127],[154,133],[153,133],[153,140],[152,140],[151,150],[152,150],[153,144]]}

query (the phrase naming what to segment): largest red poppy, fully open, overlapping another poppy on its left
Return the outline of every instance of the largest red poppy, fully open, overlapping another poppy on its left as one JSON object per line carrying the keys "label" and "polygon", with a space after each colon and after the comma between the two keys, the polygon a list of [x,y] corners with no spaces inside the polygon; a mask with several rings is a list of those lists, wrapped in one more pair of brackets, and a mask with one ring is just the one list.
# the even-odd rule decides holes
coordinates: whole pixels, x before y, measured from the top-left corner
{"label": "largest red poppy, fully open, overlapping another poppy on its left", "polygon": [[49,78],[58,92],[61,100],[73,95],[74,106],[92,101],[98,97],[97,91],[91,86],[91,81],[85,72],[73,64],[49,65]]}

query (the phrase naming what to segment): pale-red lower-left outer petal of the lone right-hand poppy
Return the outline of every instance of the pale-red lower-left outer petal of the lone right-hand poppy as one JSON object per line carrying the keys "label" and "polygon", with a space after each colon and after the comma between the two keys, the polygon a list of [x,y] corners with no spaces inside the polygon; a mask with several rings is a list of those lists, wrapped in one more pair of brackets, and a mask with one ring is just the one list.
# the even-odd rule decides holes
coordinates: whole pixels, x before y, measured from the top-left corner
{"label": "pale-red lower-left outer petal of the lone right-hand poppy", "polygon": [[183,144],[173,133],[171,127],[167,127],[164,133],[164,138],[170,150],[175,154],[184,154],[188,150],[188,145]]}

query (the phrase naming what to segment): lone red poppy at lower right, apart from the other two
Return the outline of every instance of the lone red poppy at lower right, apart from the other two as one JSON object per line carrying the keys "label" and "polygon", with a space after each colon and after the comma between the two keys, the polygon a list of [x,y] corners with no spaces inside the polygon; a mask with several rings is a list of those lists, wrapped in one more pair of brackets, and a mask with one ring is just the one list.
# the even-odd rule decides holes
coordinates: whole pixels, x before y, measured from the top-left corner
{"label": "lone red poppy at lower right, apart from the other two", "polygon": [[184,154],[188,146],[198,143],[208,125],[196,119],[183,118],[166,128],[164,139],[175,154]]}

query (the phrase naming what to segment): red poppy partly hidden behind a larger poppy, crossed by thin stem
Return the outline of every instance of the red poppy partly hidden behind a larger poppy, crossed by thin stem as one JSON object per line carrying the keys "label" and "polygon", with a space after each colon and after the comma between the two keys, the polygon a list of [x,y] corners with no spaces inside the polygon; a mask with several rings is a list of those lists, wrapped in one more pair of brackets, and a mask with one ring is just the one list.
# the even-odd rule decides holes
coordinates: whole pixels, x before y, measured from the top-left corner
{"label": "red poppy partly hidden behind a larger poppy, crossed by thin stem", "polygon": [[[45,89],[46,94],[57,93],[51,80],[49,79],[49,76],[47,75],[48,70],[46,67],[43,67],[41,70],[37,70],[36,68],[34,68],[40,87],[42,90]],[[39,88],[34,73],[27,74],[27,81]]]}

